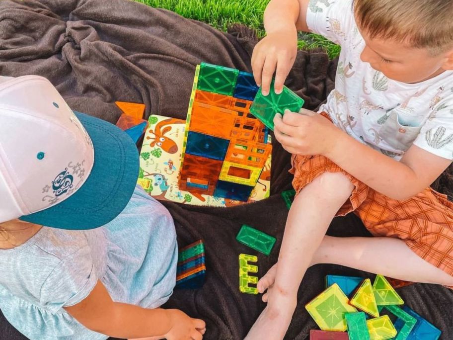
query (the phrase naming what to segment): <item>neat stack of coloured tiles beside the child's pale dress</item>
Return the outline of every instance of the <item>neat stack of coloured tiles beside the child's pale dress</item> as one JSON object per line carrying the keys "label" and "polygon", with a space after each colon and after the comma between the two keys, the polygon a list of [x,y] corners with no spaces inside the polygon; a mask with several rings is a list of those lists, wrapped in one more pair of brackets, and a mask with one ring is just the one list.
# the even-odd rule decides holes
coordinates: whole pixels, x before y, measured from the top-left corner
{"label": "neat stack of coloured tiles beside the child's pale dress", "polygon": [[176,267],[177,288],[200,288],[205,281],[205,246],[196,241],[179,251]]}

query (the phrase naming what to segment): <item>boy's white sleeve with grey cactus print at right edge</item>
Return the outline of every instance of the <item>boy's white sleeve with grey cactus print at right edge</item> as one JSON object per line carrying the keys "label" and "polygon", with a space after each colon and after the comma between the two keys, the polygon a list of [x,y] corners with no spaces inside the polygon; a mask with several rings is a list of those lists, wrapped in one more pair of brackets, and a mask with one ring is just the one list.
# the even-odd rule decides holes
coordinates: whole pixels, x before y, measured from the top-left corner
{"label": "boy's white sleeve with grey cactus print at right edge", "polygon": [[439,157],[453,160],[453,98],[434,107],[414,145]]}

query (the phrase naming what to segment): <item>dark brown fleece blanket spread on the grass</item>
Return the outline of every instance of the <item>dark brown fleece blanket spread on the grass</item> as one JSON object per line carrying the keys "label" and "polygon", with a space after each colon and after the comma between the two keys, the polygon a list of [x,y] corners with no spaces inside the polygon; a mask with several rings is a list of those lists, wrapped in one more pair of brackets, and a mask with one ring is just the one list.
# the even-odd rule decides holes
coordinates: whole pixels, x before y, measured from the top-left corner
{"label": "dark brown fleece blanket spread on the grass", "polygon": [[[230,34],[162,9],[128,0],[0,1],[0,75],[35,74],[57,86],[77,111],[115,123],[114,101],[143,102],[151,113],[185,118],[195,66],[208,62],[250,71],[256,38],[233,27]],[[334,87],[336,61],[322,52],[299,52],[287,85],[316,109]],[[240,340],[264,304],[238,290],[239,253],[255,254],[235,241],[242,224],[277,237],[270,256],[259,257],[259,275],[275,263],[288,210],[280,192],[291,188],[290,155],[276,142],[271,197],[233,208],[200,208],[165,203],[174,217],[180,246],[204,239],[207,278],[202,289],[175,291],[165,307],[206,320],[208,340]],[[451,169],[450,169],[451,170]],[[446,192],[451,172],[437,181]],[[451,192],[450,192],[451,193]],[[336,218],[333,236],[370,236],[354,215]],[[303,256],[303,254],[302,254]],[[371,274],[335,265],[311,267],[301,284],[299,305],[286,339],[308,339],[314,321],[306,302],[323,290],[326,274]],[[407,305],[453,338],[453,294],[435,285],[399,290]],[[0,314],[0,339],[23,339]]]}

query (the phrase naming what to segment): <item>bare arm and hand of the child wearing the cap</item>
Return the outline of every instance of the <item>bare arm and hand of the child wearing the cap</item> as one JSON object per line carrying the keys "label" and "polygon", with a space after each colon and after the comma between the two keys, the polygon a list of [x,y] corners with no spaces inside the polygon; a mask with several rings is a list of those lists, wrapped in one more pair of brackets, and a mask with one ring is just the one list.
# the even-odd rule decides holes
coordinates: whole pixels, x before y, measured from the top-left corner
{"label": "bare arm and hand of the child wearing the cap", "polygon": [[205,328],[202,320],[192,319],[179,310],[146,309],[114,302],[100,281],[83,301],[65,310],[89,330],[115,338],[166,336],[198,340]]}

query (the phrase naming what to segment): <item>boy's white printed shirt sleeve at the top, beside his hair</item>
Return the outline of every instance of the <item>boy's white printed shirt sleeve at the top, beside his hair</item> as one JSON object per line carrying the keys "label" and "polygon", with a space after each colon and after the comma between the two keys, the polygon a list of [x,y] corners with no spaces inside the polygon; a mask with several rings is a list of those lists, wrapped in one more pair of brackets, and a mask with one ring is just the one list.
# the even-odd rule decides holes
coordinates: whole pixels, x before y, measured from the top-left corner
{"label": "boy's white printed shirt sleeve at the top, beside his hair", "polygon": [[342,45],[357,29],[352,8],[352,0],[310,0],[308,29]]}

